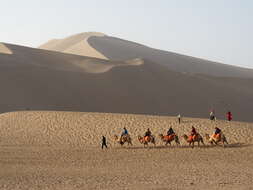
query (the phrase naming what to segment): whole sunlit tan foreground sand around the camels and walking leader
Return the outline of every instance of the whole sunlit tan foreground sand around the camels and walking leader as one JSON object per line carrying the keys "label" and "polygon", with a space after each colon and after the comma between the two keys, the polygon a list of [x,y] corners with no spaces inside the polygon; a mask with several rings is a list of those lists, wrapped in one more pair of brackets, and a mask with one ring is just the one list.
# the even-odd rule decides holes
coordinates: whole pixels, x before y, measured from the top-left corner
{"label": "whole sunlit tan foreground sand around the camels and walking leader", "polygon": [[[219,126],[229,145],[165,147],[173,126],[181,136]],[[27,111],[0,115],[0,189],[244,189],[253,188],[253,124],[110,113]],[[114,142],[127,127],[133,146]],[[137,140],[150,128],[157,145]],[[109,148],[101,150],[101,136]],[[206,141],[205,141],[206,143]]]}

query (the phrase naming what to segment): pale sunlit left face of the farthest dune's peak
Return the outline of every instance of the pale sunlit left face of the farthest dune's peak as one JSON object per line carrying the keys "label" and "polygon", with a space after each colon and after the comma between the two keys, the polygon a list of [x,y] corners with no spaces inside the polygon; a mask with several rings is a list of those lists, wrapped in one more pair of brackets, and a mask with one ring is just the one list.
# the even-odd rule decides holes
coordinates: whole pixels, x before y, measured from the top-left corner
{"label": "pale sunlit left face of the farthest dune's peak", "polygon": [[88,39],[92,36],[104,36],[104,34],[98,32],[80,33],[64,39],[50,40],[46,44],[41,45],[39,48],[100,59],[107,59],[103,54],[98,52],[88,43]]}

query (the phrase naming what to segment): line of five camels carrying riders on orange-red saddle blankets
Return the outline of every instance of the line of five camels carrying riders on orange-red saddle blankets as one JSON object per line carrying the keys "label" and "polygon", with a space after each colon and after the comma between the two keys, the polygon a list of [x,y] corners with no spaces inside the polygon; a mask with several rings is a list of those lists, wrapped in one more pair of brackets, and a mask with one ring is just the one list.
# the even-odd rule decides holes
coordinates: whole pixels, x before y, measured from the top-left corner
{"label": "line of five camels carrying riders on orange-red saddle blankets", "polygon": [[[167,145],[171,146],[172,143],[175,143],[176,146],[180,146],[179,136],[174,132],[172,127],[170,127],[170,129],[167,131],[167,134],[165,134],[165,135],[159,134],[158,137],[165,144],[165,146],[167,146]],[[182,139],[185,140],[185,142],[191,148],[194,148],[195,143],[198,144],[198,147],[200,147],[201,145],[205,146],[203,137],[199,133],[197,133],[196,129],[193,126],[191,129],[190,135],[184,134],[181,137],[182,137]],[[227,141],[225,135],[223,134],[221,129],[219,129],[218,127],[215,127],[214,134],[212,134],[212,135],[205,134],[205,138],[206,138],[206,141],[210,145],[221,144],[221,145],[223,145],[223,147],[225,147],[225,144],[228,144],[228,141]],[[121,146],[123,146],[124,144],[127,144],[128,146],[133,145],[132,138],[130,137],[130,135],[125,127],[123,128],[123,132],[122,132],[121,136],[115,135],[114,139]],[[151,144],[153,147],[156,146],[156,138],[154,135],[152,135],[149,128],[145,132],[144,136],[138,135],[138,141],[141,144],[143,144],[144,147],[148,147],[149,144]]]}

